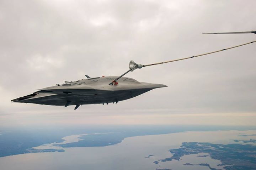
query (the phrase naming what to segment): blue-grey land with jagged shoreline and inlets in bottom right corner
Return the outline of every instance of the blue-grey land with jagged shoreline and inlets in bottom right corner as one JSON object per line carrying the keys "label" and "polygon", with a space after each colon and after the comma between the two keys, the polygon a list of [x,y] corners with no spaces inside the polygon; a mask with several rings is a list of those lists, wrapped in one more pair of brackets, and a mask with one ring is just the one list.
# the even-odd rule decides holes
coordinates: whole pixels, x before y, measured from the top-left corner
{"label": "blue-grey land with jagged shoreline and inlets in bottom right corner", "polygon": [[[208,153],[207,156],[220,160],[226,170],[256,170],[256,146],[249,144],[213,144],[203,142],[183,142],[178,149],[169,150],[173,156],[170,158],[155,161],[166,162],[172,160],[180,160],[184,155]],[[187,163],[185,165],[193,165]],[[208,166],[207,164],[197,164]],[[209,167],[211,169],[211,167]],[[215,170],[212,168],[212,170]]]}

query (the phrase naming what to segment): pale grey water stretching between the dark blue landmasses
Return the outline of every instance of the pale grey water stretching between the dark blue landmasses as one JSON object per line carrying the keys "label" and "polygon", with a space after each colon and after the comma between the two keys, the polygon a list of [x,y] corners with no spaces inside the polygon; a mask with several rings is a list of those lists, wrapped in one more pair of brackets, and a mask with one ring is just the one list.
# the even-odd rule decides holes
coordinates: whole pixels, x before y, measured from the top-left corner
{"label": "pale grey water stretching between the dark blue landmasses", "polygon": [[[239,136],[241,134],[256,134],[255,130],[248,131],[191,131],[165,135],[148,135],[125,138],[121,143],[104,147],[69,147],[53,146],[54,143],[35,147],[37,149],[55,148],[65,152],[28,153],[0,158],[1,170],[209,170],[206,166],[183,165],[185,163],[208,163],[212,168],[223,169],[219,160],[210,157],[197,157],[207,153],[191,154],[181,157],[180,161],[154,161],[172,156],[169,149],[180,148],[182,142],[210,142],[218,144],[242,143],[230,140],[250,140],[256,136]],[[71,135],[63,139],[70,143],[79,141],[79,137],[87,135]],[[59,143],[59,144],[60,144]],[[55,143],[56,144],[56,143]],[[145,158],[148,155],[153,155]]]}

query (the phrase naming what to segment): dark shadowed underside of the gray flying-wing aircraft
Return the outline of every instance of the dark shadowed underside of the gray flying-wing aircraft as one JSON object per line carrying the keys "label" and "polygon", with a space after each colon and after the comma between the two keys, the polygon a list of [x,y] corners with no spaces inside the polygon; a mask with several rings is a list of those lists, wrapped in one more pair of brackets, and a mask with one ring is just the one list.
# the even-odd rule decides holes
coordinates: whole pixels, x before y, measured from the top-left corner
{"label": "dark shadowed underside of the gray flying-wing aircraft", "polygon": [[101,104],[127,100],[141,95],[154,88],[120,90],[120,91],[95,91],[87,94],[46,94],[36,93],[12,100],[19,103],[46,104],[54,106],[69,106],[82,104]]}

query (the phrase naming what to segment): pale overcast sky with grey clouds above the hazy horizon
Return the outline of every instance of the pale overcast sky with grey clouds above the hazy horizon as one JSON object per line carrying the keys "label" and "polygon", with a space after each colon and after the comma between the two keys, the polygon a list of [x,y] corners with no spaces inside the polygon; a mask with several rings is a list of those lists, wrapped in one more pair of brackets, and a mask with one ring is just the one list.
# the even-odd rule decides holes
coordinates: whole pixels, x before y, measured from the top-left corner
{"label": "pale overcast sky with grey clouds above the hazy horizon", "polygon": [[0,124],[255,125],[256,44],[128,73],[165,84],[118,104],[11,103],[63,80],[121,75],[141,64],[256,40],[255,0],[0,1]]}

